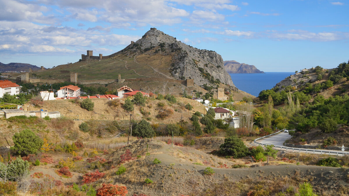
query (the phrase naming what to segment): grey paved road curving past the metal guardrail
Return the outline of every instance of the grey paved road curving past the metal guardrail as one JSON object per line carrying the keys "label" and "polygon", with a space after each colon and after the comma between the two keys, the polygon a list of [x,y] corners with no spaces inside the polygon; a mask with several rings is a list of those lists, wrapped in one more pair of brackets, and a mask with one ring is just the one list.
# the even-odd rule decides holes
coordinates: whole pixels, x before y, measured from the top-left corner
{"label": "grey paved road curving past the metal guardrail", "polygon": [[[282,148],[281,150],[286,150],[288,152],[299,152],[299,150],[292,150],[292,149],[286,149],[286,148],[290,148],[287,146],[284,146],[283,143],[288,140],[289,138],[291,138],[292,136],[289,135],[288,133],[284,133],[284,132],[280,132],[279,134],[276,135],[272,135],[266,138],[263,138],[262,140],[258,140],[257,142],[262,143],[262,144],[266,144],[266,145],[274,145],[274,146],[282,146],[284,148]],[[298,148],[298,149],[302,149],[302,153],[314,153],[313,150],[315,151],[321,151],[321,149],[306,149],[306,148]],[[277,150],[280,150],[280,148],[277,148]],[[303,150],[309,150],[311,152],[306,152]],[[331,151],[331,152],[335,152],[335,153],[331,153],[331,155],[336,155],[337,152],[342,152],[339,150],[323,150],[323,151]],[[344,151],[346,153],[348,153],[348,151]],[[325,154],[325,152],[315,152],[315,154]],[[328,154],[328,152],[326,153]]]}

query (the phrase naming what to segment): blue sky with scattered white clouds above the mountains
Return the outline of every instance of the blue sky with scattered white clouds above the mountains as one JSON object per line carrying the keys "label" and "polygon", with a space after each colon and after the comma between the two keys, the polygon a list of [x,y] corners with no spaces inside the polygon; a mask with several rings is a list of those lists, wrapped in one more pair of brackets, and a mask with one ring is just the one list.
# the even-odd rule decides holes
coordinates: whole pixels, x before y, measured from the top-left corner
{"label": "blue sky with scattered white clouds above the mountains", "polygon": [[266,72],[349,60],[348,0],[0,0],[0,62],[109,55],[155,27]]}

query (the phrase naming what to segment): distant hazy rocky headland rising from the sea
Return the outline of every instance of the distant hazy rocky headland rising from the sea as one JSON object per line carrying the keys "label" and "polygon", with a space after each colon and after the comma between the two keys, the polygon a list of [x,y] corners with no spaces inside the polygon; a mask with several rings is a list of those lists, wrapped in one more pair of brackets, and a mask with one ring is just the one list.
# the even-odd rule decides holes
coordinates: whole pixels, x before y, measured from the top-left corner
{"label": "distant hazy rocky headland rising from the sea", "polygon": [[246,63],[239,63],[237,61],[223,61],[225,70],[231,74],[263,74],[264,71],[260,71],[254,65],[248,65]]}

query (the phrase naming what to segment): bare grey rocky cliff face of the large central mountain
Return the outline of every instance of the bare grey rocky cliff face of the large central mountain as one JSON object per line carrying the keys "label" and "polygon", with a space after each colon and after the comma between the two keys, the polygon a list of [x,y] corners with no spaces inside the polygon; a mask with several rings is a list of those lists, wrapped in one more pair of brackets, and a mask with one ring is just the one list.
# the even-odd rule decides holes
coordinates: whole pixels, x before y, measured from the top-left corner
{"label": "bare grey rocky cliff face of the large central mountain", "polygon": [[127,55],[134,53],[136,55],[140,53],[170,55],[171,63],[167,69],[172,77],[178,80],[191,78],[194,79],[195,84],[200,86],[203,84],[214,85],[219,81],[236,88],[224,68],[221,55],[214,51],[188,46],[155,28],[151,28],[141,39],[130,44],[120,53]]}

